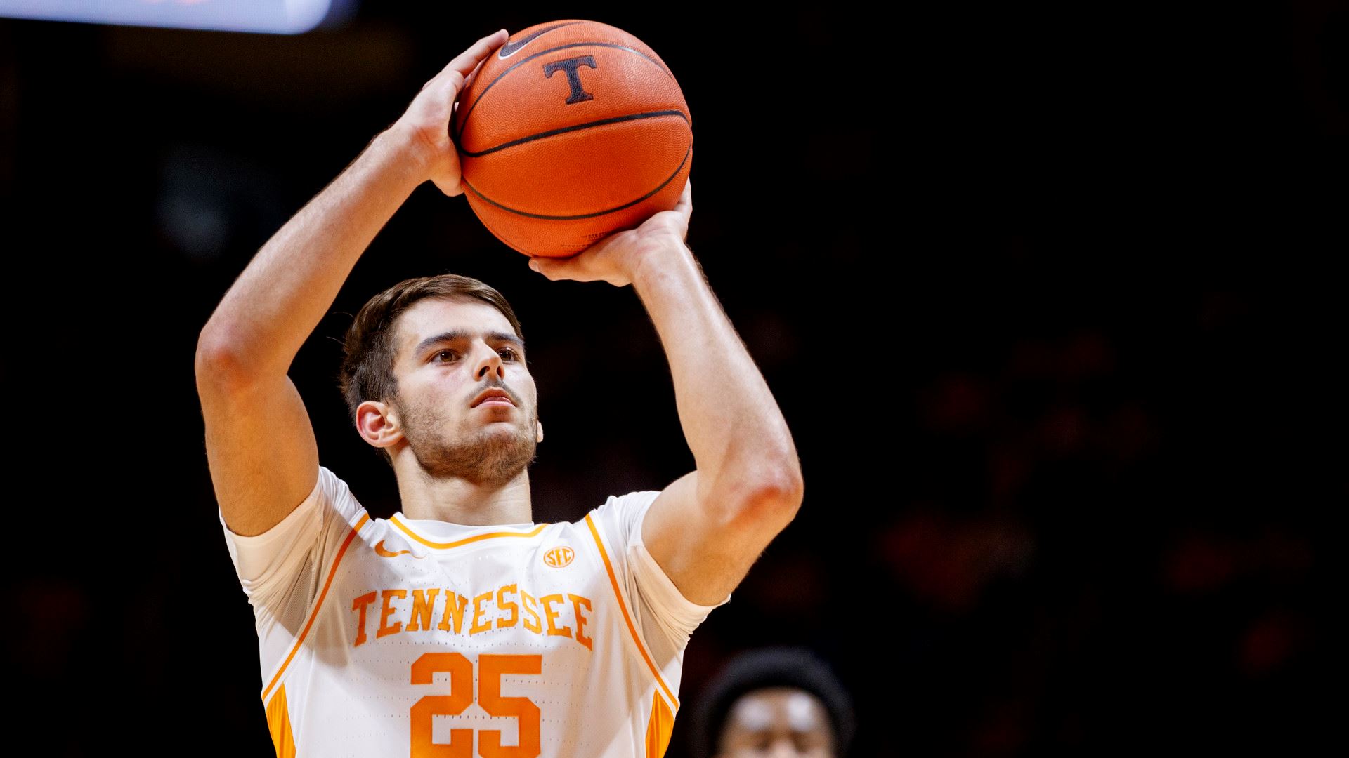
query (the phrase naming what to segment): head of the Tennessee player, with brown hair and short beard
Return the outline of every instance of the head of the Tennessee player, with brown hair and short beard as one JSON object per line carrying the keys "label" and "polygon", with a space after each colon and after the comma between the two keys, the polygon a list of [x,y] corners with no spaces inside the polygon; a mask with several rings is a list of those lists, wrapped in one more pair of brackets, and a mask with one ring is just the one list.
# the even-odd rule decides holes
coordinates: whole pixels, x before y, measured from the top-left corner
{"label": "head of the Tennessee player, with brown hair and short beard", "polygon": [[[471,276],[405,279],[347,329],[339,386],[360,436],[436,479],[502,486],[533,460],[544,426],[506,298]],[[488,390],[510,403],[475,405]]]}

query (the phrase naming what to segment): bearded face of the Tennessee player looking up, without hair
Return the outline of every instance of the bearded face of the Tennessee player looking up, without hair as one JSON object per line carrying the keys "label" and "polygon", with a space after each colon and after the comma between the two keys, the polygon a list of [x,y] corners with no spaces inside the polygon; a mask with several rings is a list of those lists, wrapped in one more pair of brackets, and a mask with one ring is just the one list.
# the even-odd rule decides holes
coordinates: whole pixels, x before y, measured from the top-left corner
{"label": "bearded face of the Tennessee player looking up, without hair", "polygon": [[[506,316],[480,301],[426,298],[399,316],[391,405],[429,475],[505,484],[534,460],[538,394],[514,337]],[[488,387],[511,402],[475,407]]]}

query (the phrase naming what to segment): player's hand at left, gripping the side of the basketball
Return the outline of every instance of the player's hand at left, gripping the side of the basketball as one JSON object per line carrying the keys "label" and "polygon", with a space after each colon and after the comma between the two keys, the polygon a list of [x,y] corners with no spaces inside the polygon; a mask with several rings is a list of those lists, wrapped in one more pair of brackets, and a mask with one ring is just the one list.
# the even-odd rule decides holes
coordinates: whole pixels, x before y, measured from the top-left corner
{"label": "player's hand at left, gripping the side of the basketball", "polygon": [[407,111],[390,127],[406,135],[413,158],[424,167],[426,178],[451,197],[464,194],[459,182],[459,151],[449,139],[449,120],[459,105],[459,93],[483,61],[507,39],[510,34],[498,30],[460,53],[422,85]]}

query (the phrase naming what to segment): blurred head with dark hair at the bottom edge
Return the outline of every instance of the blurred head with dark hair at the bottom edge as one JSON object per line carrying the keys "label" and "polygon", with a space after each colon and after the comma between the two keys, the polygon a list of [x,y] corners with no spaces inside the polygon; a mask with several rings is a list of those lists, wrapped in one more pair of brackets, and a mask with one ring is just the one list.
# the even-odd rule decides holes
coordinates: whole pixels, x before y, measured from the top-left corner
{"label": "blurred head with dark hair at the bottom edge", "polygon": [[855,730],[853,699],[804,647],[737,655],[707,685],[695,719],[699,758],[842,758]]}

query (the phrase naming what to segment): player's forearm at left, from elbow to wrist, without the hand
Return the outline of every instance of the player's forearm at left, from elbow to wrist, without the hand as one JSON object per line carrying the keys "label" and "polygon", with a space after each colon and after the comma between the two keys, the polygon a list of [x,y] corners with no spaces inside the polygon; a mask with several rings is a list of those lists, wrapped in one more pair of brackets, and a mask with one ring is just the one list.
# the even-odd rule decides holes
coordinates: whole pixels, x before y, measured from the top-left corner
{"label": "player's forearm at left, from elbow to wrist, without the hand", "polygon": [[241,376],[285,375],[356,259],[425,175],[390,128],[254,255],[208,320],[200,356]]}

